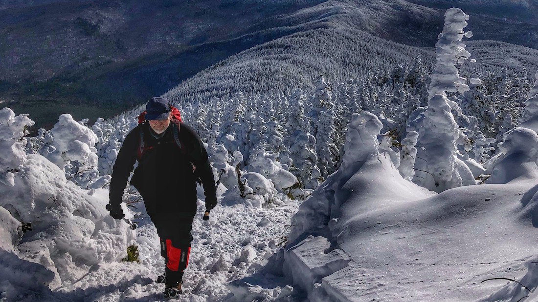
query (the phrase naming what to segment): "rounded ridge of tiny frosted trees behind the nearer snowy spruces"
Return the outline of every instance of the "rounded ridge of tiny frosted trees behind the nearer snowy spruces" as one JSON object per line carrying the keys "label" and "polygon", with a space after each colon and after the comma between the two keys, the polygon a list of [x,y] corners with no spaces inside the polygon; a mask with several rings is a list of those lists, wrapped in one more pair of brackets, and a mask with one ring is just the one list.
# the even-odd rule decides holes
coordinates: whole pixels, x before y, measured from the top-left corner
{"label": "rounded ridge of tiny frosted trees behind the nearer snowy spruces", "polygon": [[208,100],[234,93],[293,93],[310,89],[317,75],[331,82],[385,72],[431,51],[387,41],[357,30],[317,29],[253,47],[197,73],[167,95],[174,100]]}

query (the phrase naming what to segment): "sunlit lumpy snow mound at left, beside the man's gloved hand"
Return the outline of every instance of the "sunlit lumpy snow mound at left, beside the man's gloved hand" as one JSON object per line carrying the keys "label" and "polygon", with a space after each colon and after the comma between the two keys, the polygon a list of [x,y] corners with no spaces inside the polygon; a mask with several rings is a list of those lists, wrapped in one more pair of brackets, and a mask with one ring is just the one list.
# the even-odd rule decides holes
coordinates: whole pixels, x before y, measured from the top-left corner
{"label": "sunlit lumpy snow mound at left, beside the man's gloved hand", "polygon": [[134,239],[128,226],[105,210],[107,190],[77,187],[40,155],[29,154],[15,186],[0,186],[0,194],[0,206],[31,226],[16,253],[54,272],[46,284],[51,289],[73,282],[91,266],[121,259]]}

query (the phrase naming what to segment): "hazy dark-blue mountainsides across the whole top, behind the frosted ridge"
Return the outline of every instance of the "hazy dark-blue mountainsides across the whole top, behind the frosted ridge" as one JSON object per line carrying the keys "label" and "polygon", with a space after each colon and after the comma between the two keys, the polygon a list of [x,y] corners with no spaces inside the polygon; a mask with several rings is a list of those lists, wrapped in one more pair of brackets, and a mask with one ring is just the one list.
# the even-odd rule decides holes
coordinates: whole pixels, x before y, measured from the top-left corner
{"label": "hazy dark-blue mountainsides across the whole top, behind the frosted ridge", "polygon": [[433,47],[451,3],[468,5],[475,39],[538,48],[538,13],[528,0],[518,2],[525,14],[507,0],[481,1],[487,12],[463,0],[0,0],[0,106],[16,100],[10,106],[38,127],[63,112],[107,117],[240,51],[316,28]]}

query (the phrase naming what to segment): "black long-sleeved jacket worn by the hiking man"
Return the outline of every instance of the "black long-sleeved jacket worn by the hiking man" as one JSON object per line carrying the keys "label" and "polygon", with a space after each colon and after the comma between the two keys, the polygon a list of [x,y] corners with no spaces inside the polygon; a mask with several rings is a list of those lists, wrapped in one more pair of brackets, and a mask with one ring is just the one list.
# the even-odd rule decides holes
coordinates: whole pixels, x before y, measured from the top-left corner
{"label": "black long-sleeved jacket worn by the hiking man", "polygon": [[[175,142],[172,127],[179,127],[180,150]],[[123,190],[138,160],[140,131],[144,131],[143,157],[134,170],[131,185],[144,198],[147,213],[196,213],[196,179],[202,180],[204,194],[215,196],[215,179],[206,148],[196,132],[189,126],[170,123],[160,138],[151,133],[145,122],[132,129],[125,137],[112,169],[110,203],[122,202]],[[193,171],[193,165],[196,168]]]}

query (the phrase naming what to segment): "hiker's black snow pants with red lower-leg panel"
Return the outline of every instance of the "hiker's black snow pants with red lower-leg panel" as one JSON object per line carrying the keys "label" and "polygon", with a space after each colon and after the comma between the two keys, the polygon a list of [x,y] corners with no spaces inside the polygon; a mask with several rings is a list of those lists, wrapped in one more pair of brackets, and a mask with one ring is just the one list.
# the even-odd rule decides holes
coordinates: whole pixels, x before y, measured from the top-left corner
{"label": "hiker's black snow pants with red lower-leg panel", "polygon": [[166,285],[175,286],[183,278],[190,256],[194,215],[190,213],[156,213],[151,220],[160,237],[161,256],[166,264]]}

